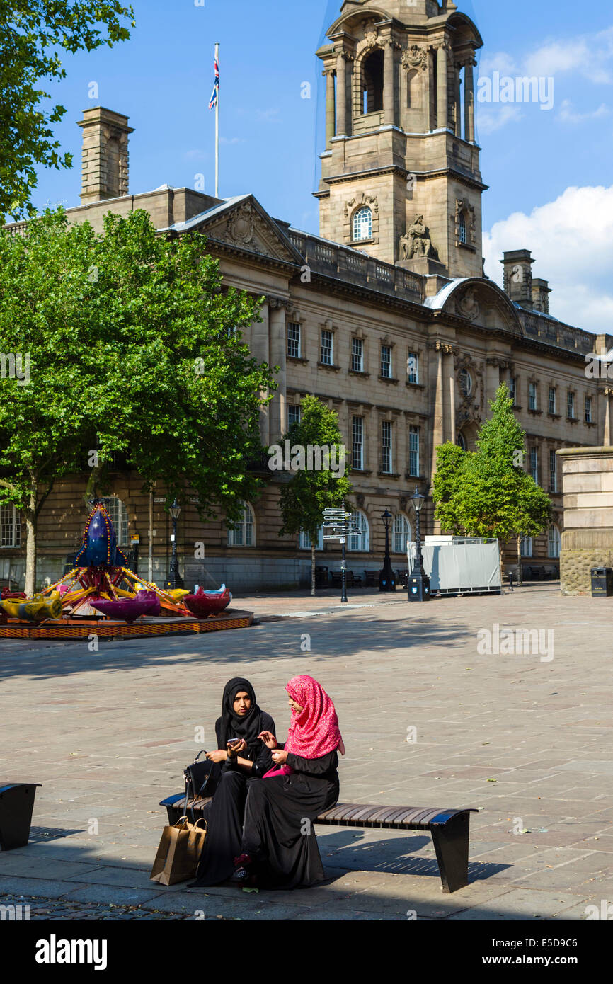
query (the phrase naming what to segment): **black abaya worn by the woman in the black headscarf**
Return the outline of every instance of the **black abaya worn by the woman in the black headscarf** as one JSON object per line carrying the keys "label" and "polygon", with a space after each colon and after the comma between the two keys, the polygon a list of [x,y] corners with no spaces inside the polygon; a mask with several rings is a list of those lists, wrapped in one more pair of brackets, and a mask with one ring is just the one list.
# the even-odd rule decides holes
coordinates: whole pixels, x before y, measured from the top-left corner
{"label": "black abaya worn by the woman in the black headscarf", "polygon": [[[262,729],[275,734],[275,721],[266,711],[260,711]],[[221,718],[215,722],[217,747],[221,748]],[[220,778],[211,803],[203,809],[207,821],[205,846],[198,866],[195,886],[204,888],[219,885],[230,877],[234,870],[234,858],[240,854],[243,830],[243,813],[247,792],[251,786],[259,785],[261,776],[274,767],[271,750],[264,742],[259,743],[257,758],[253,768],[240,766],[220,769]],[[267,782],[269,780],[267,779]]]}

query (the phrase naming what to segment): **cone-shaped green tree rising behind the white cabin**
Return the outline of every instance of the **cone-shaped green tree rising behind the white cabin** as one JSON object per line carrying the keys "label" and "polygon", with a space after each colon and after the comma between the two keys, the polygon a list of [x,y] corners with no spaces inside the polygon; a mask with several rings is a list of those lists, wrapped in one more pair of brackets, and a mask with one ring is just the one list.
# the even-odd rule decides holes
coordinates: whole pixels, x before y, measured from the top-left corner
{"label": "cone-shaped green tree rising behind the white cabin", "polygon": [[490,400],[492,416],[477,436],[476,452],[437,449],[433,500],[443,529],[466,536],[535,535],[550,522],[551,501],[522,468],[525,432],[514,416],[505,383]]}

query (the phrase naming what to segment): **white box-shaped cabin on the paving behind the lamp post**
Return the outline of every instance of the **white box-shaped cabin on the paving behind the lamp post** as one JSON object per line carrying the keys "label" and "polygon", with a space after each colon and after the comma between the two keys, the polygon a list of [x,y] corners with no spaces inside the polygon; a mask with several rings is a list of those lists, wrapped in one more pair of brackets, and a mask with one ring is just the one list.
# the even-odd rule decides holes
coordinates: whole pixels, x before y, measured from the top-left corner
{"label": "white box-shaped cabin on the paving behind the lamp post", "polygon": [[[416,544],[407,544],[408,568],[415,564]],[[500,594],[497,539],[426,536],[421,548],[424,571],[434,594]]]}

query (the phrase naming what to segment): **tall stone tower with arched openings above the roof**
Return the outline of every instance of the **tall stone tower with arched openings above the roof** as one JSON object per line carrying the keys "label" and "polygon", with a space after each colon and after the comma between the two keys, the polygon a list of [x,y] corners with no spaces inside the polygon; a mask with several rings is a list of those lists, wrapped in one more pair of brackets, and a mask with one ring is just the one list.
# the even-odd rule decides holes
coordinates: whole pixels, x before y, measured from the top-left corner
{"label": "tall stone tower with arched openings above the roof", "polygon": [[320,234],[418,274],[481,277],[476,27],[452,0],[344,0],[327,34]]}

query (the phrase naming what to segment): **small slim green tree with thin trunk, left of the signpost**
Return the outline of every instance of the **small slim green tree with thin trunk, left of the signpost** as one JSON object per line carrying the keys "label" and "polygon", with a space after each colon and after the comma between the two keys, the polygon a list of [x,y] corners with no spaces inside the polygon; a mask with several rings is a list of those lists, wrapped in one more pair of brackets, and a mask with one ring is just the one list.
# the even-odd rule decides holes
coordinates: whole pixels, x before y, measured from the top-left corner
{"label": "small slim green tree with thin trunk, left of the signpost", "polygon": [[[289,481],[281,486],[280,511],[282,527],[279,536],[292,536],[301,530],[311,541],[311,594],[315,594],[315,550],[319,529],[325,509],[335,509],[342,505],[351,493],[351,484],[344,476],[345,453],[342,435],[338,428],[338,416],[317,397],[305,397],[302,402],[302,417],[285,434],[292,448],[330,449],[327,463],[331,468],[304,468],[292,474]],[[296,454],[297,463],[299,455]],[[308,458],[307,458],[308,461]],[[317,461],[317,456],[314,456]],[[322,458],[322,463],[326,460]],[[342,472],[342,473],[341,473]]]}

